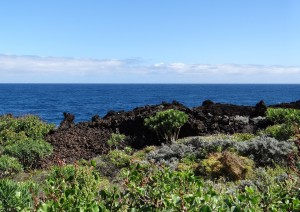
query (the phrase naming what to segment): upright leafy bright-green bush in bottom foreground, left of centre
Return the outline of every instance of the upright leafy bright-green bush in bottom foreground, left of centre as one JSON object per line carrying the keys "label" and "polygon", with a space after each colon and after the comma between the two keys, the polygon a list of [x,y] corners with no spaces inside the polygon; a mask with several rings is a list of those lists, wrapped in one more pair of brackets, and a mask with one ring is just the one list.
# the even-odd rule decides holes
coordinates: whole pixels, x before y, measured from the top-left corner
{"label": "upright leafy bright-green bush in bottom foreground, left of centre", "polygon": [[55,167],[44,189],[42,211],[99,211],[101,179],[93,167]]}

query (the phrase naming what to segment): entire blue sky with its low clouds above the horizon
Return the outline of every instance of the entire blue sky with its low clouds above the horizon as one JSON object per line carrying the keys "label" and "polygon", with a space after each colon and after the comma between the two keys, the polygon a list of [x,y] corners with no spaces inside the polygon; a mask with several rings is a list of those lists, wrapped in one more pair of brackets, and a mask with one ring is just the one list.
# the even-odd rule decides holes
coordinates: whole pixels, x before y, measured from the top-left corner
{"label": "entire blue sky with its low clouds above the horizon", "polygon": [[3,0],[0,83],[299,83],[299,0]]}

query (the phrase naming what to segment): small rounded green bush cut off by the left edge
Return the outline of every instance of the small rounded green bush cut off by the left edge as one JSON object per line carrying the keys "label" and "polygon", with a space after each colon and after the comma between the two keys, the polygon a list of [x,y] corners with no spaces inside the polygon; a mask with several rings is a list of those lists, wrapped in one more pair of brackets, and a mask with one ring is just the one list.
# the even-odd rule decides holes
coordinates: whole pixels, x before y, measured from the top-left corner
{"label": "small rounded green bush cut off by the left edge", "polygon": [[22,165],[16,158],[8,155],[0,156],[0,178],[13,176],[23,169]]}

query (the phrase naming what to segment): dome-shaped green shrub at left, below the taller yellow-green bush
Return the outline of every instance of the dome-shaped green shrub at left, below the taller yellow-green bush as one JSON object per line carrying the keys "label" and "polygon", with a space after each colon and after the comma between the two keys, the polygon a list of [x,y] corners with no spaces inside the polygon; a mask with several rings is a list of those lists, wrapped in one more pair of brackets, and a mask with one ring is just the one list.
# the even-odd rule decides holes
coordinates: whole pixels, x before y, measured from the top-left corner
{"label": "dome-shaped green shrub at left, below the taller yellow-green bush", "polygon": [[35,168],[37,163],[52,153],[52,146],[43,140],[27,140],[4,147],[4,154],[15,157],[24,168]]}

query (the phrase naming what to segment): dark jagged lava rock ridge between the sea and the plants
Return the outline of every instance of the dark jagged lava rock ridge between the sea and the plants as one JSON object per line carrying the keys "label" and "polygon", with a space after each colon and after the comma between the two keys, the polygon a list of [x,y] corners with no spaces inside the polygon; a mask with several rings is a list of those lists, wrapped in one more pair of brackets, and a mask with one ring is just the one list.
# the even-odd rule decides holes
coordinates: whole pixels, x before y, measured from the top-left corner
{"label": "dark jagged lava rock ridge between the sea and the plants", "polygon": [[[300,101],[269,107],[300,109]],[[55,163],[73,163],[79,159],[91,159],[109,151],[107,140],[113,132],[127,136],[122,144],[140,149],[147,145],[159,145],[157,135],[144,126],[144,119],[156,112],[176,109],[189,116],[179,137],[208,135],[215,133],[255,133],[272,123],[265,119],[267,106],[260,101],[256,106],[238,106],[213,103],[206,100],[199,107],[188,108],[173,101],[159,105],[135,108],[132,111],[110,111],[106,116],[92,117],[91,121],[74,123],[72,114],[64,113],[58,129],[51,131],[47,141],[53,145],[54,153],[42,162],[42,166]]]}

